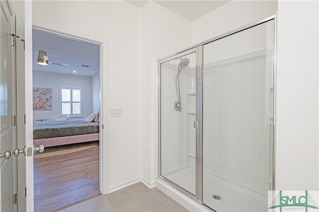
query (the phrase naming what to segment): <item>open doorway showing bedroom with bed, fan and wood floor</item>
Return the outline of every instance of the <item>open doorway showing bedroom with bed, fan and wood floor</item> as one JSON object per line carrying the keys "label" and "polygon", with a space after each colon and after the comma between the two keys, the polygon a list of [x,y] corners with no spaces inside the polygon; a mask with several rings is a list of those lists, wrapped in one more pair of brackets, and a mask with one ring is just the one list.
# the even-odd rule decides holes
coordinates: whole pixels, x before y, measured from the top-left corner
{"label": "open doorway showing bedroom with bed, fan and wood floor", "polygon": [[32,31],[34,211],[100,195],[100,45]]}

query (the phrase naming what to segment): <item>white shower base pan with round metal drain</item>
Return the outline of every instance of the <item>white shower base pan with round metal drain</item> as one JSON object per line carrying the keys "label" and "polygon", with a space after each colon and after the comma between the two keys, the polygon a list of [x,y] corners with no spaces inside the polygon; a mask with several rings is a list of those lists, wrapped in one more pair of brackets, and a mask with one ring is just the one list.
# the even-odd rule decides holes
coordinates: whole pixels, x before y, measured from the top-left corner
{"label": "white shower base pan with round metal drain", "polygon": [[[195,168],[193,166],[172,172],[164,177],[191,193],[195,191]],[[267,211],[266,195],[205,171],[203,182],[205,183],[203,185],[203,204],[217,212]],[[218,195],[221,199],[216,200],[213,195]]]}

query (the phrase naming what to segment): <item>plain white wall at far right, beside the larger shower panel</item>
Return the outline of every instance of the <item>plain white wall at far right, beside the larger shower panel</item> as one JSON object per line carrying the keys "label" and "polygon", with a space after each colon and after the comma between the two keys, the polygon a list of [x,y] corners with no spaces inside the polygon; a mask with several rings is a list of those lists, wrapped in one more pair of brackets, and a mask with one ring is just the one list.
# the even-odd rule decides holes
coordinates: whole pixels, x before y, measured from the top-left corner
{"label": "plain white wall at far right, beside the larger shower panel", "polygon": [[319,190],[318,6],[278,1],[276,190]]}

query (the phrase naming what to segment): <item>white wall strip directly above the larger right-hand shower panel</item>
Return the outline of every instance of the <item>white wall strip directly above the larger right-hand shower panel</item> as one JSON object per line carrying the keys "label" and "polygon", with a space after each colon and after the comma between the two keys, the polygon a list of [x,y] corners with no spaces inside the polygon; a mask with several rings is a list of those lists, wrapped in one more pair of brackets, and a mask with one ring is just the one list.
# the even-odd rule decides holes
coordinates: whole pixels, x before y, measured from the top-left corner
{"label": "white wall strip directly above the larger right-hand shower panel", "polygon": [[276,0],[232,0],[192,22],[191,43],[200,43],[274,15],[276,10]]}

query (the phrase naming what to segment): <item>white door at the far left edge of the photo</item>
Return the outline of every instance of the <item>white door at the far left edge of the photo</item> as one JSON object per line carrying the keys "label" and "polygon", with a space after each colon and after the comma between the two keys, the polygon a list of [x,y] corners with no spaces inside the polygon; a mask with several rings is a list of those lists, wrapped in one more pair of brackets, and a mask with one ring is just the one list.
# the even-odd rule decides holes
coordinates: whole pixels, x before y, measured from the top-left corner
{"label": "white door at the far left edge of the photo", "polygon": [[0,211],[8,212],[16,211],[14,16],[8,1],[1,0],[0,8]]}

